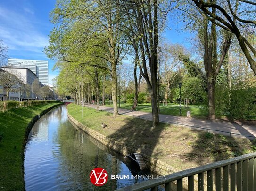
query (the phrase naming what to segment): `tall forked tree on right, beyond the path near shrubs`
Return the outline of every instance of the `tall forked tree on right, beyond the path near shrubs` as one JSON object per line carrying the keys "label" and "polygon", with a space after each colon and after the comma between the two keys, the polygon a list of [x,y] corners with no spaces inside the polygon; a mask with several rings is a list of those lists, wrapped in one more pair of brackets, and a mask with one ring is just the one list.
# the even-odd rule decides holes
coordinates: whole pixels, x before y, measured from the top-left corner
{"label": "tall forked tree on right, beyond the path near shrubs", "polygon": [[[209,0],[208,2],[211,4],[215,4],[216,0]],[[184,10],[184,12],[188,13],[188,17],[193,19],[194,22],[190,22],[190,24],[192,24],[193,29],[198,30],[200,44],[202,45],[202,49],[204,50],[203,60],[207,81],[207,97],[209,109],[208,118],[215,119],[216,77],[223,65],[224,58],[231,45],[232,35],[230,31],[221,32],[222,28],[216,22],[210,22],[208,20],[208,16],[205,15],[204,12],[202,12],[197,7],[193,7],[194,6],[191,6],[190,12],[188,12],[187,10]],[[217,16],[219,14],[216,11],[215,7],[212,7],[211,9],[206,9],[207,12],[211,15]],[[212,19],[210,20],[212,21]],[[219,51],[217,49],[218,47]]]}

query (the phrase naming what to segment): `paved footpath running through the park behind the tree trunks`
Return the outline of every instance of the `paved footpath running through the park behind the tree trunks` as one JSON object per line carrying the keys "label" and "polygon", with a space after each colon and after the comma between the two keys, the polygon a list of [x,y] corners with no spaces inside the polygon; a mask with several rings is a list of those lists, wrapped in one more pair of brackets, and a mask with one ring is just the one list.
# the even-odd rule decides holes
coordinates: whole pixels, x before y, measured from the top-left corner
{"label": "paved footpath running through the park behind the tree trunks", "polygon": [[[88,107],[88,105],[85,105]],[[96,105],[89,105],[89,107],[95,108]],[[112,107],[100,106],[100,110],[108,111],[113,113]],[[119,114],[129,115],[133,117],[143,118],[147,120],[152,120],[152,113],[144,111],[132,111],[128,109],[118,108]],[[159,114],[160,122],[172,123],[183,125],[185,127],[206,130],[209,132],[214,132],[223,135],[236,136],[236,137],[246,137],[250,140],[256,138],[256,126],[255,125],[246,125],[239,122],[229,122],[227,120],[217,119],[217,120],[206,120],[206,119],[197,119],[197,118],[188,118],[181,116],[172,116]]]}

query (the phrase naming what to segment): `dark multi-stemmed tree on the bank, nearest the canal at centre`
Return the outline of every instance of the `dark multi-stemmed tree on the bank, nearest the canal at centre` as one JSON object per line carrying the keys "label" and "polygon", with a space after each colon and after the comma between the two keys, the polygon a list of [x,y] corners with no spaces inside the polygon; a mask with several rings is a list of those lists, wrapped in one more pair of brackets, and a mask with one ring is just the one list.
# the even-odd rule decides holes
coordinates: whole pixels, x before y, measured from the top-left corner
{"label": "dark multi-stemmed tree on the bank, nearest the canal at centre", "polygon": [[[122,6],[125,7],[126,15],[131,18],[134,23],[135,32],[139,42],[140,49],[140,73],[146,80],[148,89],[151,95],[151,107],[153,126],[159,124],[159,115],[157,107],[157,49],[158,49],[158,35],[159,35],[159,19],[161,26],[165,23],[165,14],[158,12],[163,8],[160,0],[123,0]],[[166,11],[165,13],[167,13]],[[131,28],[131,27],[130,27]],[[133,47],[137,47],[136,45]],[[149,73],[147,61],[149,63]],[[150,75],[149,75],[150,74]]]}

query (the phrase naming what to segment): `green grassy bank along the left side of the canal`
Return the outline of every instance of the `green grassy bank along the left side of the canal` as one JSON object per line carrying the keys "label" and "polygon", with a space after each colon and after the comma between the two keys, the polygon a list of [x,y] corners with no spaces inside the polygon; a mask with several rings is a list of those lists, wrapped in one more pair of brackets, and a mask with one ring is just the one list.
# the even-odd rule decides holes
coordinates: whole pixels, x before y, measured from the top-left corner
{"label": "green grassy bank along the left side of the canal", "polygon": [[36,115],[60,103],[48,103],[0,112],[0,190],[24,190],[23,155],[29,128]]}

